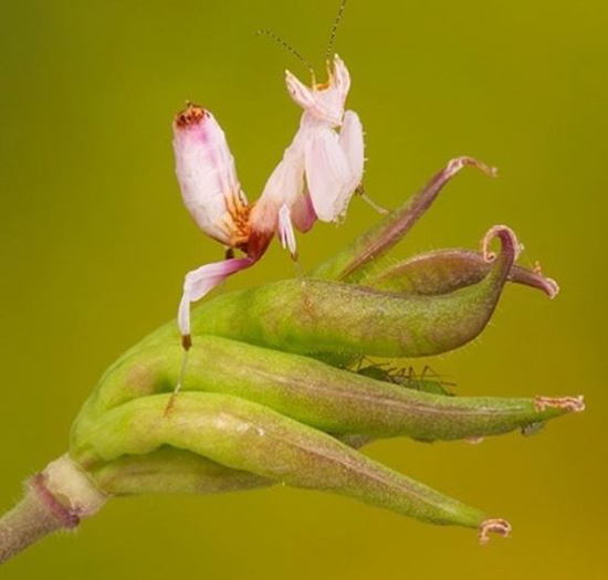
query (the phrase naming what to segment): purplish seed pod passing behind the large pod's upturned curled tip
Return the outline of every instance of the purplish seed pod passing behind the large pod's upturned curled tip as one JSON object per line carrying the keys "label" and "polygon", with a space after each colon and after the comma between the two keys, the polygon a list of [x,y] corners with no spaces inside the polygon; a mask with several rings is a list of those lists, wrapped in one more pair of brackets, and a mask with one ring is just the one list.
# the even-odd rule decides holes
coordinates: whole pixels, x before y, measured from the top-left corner
{"label": "purplish seed pod passing behind the large pod's upturned curled tip", "polygon": [[[439,250],[420,254],[366,278],[365,284],[377,289],[401,295],[436,296],[448,294],[481,282],[490,272],[492,262],[471,250]],[[513,265],[507,280],[544,292],[554,298],[559,286],[534,271]]]}

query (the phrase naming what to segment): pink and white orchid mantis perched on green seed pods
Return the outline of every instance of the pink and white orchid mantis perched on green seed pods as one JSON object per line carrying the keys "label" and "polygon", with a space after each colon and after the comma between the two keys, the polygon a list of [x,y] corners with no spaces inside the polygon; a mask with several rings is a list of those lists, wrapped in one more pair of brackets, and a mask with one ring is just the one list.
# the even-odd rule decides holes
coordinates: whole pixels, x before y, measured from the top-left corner
{"label": "pink and white orchid mantis perched on green seed pods", "polygon": [[333,67],[328,65],[328,77],[326,84],[307,87],[287,71],[290,95],[303,108],[300,128],[253,203],[241,189],[234,158],[213,115],[188,104],[176,116],[174,150],[184,203],[229,255],[233,250],[245,254],[186,275],[178,312],[186,350],[191,346],[191,303],[260,260],[275,233],[295,259],[294,225],[306,232],[317,219],[338,221],[346,213],[363,177],[363,127],[356,113],[345,112],[350,76],[337,55]]}

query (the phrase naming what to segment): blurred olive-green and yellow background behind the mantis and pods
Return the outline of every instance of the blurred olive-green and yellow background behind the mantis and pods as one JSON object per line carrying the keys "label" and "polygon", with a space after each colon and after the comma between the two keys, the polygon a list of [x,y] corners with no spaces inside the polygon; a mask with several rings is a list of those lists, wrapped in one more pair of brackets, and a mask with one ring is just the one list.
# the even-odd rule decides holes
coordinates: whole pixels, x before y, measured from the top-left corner
{"label": "blurred olive-green and yellow background behind the mantis and pods", "polygon": [[[171,318],[184,274],[218,259],[184,209],[170,123],[185,99],[226,129],[250,199],[293,136],[283,85],[306,70],[254,31],[285,35],[321,70],[337,2],[3,0],[0,3],[0,253],[3,389],[0,508],[66,449],[102,371]],[[522,263],[562,285],[554,302],[509,287],[483,337],[433,360],[468,394],[586,396],[588,411],[536,437],[369,453],[489,514],[513,537],[480,548],[355,502],[289,488],[115,500],[48,539],[2,578],[606,578],[605,300],[608,7],[555,2],[350,0],[337,51],[367,131],[366,187],[391,207],[469,154],[464,171],[398,249],[476,246],[515,229]],[[304,266],[377,215],[300,239]],[[229,282],[293,266],[277,247]]]}

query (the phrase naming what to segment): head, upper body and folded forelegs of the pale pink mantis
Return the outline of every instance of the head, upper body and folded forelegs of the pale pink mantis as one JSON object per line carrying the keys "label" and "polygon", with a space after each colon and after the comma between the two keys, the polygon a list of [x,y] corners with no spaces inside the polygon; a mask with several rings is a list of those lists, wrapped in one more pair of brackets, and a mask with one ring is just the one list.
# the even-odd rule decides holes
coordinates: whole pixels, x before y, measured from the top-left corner
{"label": "head, upper body and folded forelegs of the pale pink mantis", "polygon": [[302,119],[261,198],[261,202],[281,200],[277,233],[283,247],[294,257],[292,223],[306,232],[317,219],[343,219],[363,178],[363,126],[356,113],[345,112],[350,75],[337,54],[333,66],[327,66],[327,75],[326,84],[313,82],[307,87],[286,72],[287,89],[303,109]]}

